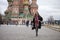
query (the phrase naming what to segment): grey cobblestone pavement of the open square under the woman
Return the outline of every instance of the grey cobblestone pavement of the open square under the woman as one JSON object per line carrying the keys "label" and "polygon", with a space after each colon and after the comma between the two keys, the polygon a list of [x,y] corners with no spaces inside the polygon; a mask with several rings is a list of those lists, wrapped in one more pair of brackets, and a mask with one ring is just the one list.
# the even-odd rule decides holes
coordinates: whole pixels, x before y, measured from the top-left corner
{"label": "grey cobblestone pavement of the open square under the woman", "polygon": [[60,32],[42,26],[38,37],[35,30],[25,25],[2,25],[0,26],[0,40],[60,40]]}

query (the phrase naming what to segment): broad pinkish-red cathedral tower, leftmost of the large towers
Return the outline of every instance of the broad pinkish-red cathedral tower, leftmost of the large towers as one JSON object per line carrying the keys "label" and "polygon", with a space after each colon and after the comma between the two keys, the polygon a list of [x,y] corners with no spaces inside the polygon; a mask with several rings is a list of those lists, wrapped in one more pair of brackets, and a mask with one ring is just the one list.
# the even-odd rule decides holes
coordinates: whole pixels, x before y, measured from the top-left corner
{"label": "broad pinkish-red cathedral tower, leftmost of the large towers", "polygon": [[11,17],[17,18],[19,16],[19,0],[13,0]]}

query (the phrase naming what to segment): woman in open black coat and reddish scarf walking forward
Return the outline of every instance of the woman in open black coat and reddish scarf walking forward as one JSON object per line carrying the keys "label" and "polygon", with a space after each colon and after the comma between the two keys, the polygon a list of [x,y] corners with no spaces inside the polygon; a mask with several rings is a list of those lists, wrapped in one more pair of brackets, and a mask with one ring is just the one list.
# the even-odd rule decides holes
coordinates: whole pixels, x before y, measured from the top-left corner
{"label": "woman in open black coat and reddish scarf walking forward", "polygon": [[36,13],[34,15],[32,30],[36,29],[36,36],[38,36],[38,29],[41,29],[41,21],[42,20],[43,20],[43,18],[38,13]]}

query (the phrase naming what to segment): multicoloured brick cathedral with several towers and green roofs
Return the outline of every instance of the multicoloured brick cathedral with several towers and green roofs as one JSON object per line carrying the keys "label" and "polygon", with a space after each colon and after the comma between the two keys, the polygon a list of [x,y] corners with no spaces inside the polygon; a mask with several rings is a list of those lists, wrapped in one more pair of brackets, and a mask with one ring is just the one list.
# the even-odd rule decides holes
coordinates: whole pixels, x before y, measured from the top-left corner
{"label": "multicoloured brick cathedral with several towers and green roofs", "polygon": [[38,12],[37,0],[7,0],[8,8],[5,11],[6,18],[21,22],[22,20],[32,20],[34,14]]}

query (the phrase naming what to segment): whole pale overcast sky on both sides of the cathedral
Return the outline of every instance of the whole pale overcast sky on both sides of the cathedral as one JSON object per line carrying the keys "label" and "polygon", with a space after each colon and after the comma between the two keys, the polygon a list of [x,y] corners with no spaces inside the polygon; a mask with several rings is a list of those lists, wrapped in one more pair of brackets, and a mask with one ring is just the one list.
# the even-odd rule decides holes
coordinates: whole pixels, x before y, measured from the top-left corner
{"label": "whole pale overcast sky on both sides of the cathedral", "polygon": [[[53,16],[54,19],[60,19],[60,0],[37,0],[39,6],[39,14],[46,20],[49,16]],[[0,13],[4,14],[4,11],[8,7],[7,0],[0,0]]]}

